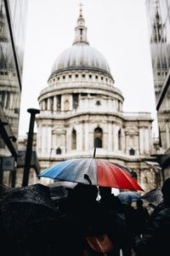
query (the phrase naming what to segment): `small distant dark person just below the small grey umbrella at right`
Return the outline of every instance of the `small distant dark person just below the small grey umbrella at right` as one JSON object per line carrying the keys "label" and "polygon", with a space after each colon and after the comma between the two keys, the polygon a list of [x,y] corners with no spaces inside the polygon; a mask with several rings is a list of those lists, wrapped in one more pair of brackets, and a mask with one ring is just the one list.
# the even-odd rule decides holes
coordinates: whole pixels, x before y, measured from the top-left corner
{"label": "small distant dark person just below the small grey umbrella at right", "polygon": [[144,202],[139,199],[136,201],[136,208],[134,209],[134,217],[135,217],[135,226],[134,232],[137,236],[141,236],[144,234],[144,230],[148,224],[150,219],[150,214],[146,207],[143,206]]}

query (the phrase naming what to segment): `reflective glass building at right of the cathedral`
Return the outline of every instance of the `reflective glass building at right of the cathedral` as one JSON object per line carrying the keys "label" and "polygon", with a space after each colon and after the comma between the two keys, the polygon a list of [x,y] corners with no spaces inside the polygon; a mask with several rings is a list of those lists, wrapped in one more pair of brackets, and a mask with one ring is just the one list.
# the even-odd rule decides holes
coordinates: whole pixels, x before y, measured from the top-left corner
{"label": "reflective glass building at right of the cathedral", "polygon": [[161,148],[155,157],[163,181],[170,177],[170,1],[146,0],[146,10]]}

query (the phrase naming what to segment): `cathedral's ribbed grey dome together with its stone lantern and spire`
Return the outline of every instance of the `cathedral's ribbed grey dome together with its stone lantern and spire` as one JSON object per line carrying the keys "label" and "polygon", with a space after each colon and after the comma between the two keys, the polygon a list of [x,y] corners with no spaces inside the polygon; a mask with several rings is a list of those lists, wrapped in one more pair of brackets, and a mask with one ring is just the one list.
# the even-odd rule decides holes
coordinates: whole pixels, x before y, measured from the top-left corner
{"label": "cathedral's ribbed grey dome together with its stone lantern and spire", "polygon": [[111,75],[110,67],[105,57],[88,44],[87,27],[82,17],[82,9],[80,9],[75,30],[76,37],[73,45],[65,49],[54,61],[52,74],[65,70],[88,69]]}

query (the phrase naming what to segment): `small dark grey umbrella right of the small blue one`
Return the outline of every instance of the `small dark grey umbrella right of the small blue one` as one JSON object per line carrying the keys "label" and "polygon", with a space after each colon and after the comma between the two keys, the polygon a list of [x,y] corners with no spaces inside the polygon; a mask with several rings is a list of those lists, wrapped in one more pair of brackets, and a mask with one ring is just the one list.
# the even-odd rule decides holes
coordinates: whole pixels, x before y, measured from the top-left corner
{"label": "small dark grey umbrella right of the small blue one", "polygon": [[141,196],[141,199],[145,201],[149,201],[153,207],[156,207],[163,201],[163,195],[161,193],[161,189],[151,189],[149,192]]}

